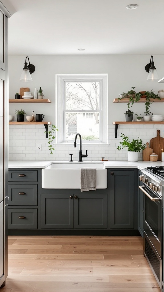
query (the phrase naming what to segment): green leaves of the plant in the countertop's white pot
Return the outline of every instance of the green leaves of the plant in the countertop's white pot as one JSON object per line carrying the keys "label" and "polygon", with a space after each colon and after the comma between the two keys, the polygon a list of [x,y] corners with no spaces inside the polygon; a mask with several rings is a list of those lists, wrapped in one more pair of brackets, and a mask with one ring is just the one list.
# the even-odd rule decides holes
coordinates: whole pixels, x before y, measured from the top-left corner
{"label": "green leaves of the plant in the countertop's white pot", "polygon": [[123,141],[120,142],[120,144],[122,144],[122,146],[118,146],[117,150],[121,150],[124,149],[125,147],[128,147],[128,151],[130,152],[139,152],[141,150],[144,150],[145,148],[145,144],[143,144],[143,141],[141,139],[132,139],[132,141],[129,140],[129,138],[127,136],[125,136],[125,134],[121,133],[121,138],[123,138]]}

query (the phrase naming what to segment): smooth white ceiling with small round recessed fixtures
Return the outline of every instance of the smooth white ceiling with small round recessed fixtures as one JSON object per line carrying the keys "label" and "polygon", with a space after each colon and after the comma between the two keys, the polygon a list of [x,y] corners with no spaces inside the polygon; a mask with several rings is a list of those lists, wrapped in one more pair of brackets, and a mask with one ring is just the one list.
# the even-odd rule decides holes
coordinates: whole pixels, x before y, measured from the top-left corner
{"label": "smooth white ceiling with small round recessed fixtures", "polygon": [[164,0],[10,2],[9,55],[164,54]]}

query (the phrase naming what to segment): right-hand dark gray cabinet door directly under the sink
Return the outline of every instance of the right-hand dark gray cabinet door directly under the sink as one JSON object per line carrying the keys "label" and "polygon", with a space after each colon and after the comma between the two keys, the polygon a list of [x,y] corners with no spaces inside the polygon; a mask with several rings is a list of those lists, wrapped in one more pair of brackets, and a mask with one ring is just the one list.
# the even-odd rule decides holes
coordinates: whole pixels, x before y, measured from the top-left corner
{"label": "right-hand dark gray cabinet door directly under the sink", "polygon": [[74,195],[74,228],[107,228],[107,194]]}

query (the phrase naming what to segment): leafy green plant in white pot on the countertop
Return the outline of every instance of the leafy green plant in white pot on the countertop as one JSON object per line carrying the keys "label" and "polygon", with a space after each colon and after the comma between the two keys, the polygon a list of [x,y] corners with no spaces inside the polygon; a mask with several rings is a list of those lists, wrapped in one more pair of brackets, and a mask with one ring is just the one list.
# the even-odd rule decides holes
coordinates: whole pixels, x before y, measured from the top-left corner
{"label": "leafy green plant in white pot on the countertop", "polygon": [[129,138],[122,133],[121,138],[123,138],[123,141],[120,142],[122,146],[118,146],[117,150],[121,150],[124,149],[125,147],[128,147],[128,161],[131,162],[138,161],[138,152],[144,150],[145,148],[145,144],[143,144],[143,141],[139,139],[139,137],[136,140],[132,139],[132,141],[130,141]]}

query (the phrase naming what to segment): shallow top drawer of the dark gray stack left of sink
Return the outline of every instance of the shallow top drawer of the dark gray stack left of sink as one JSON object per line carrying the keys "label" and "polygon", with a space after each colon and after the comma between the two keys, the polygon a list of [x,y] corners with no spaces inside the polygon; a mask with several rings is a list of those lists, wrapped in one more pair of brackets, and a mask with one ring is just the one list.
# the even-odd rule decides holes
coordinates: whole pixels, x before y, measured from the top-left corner
{"label": "shallow top drawer of the dark gray stack left of sink", "polygon": [[8,171],[9,182],[37,182],[38,175],[37,170],[9,170]]}

